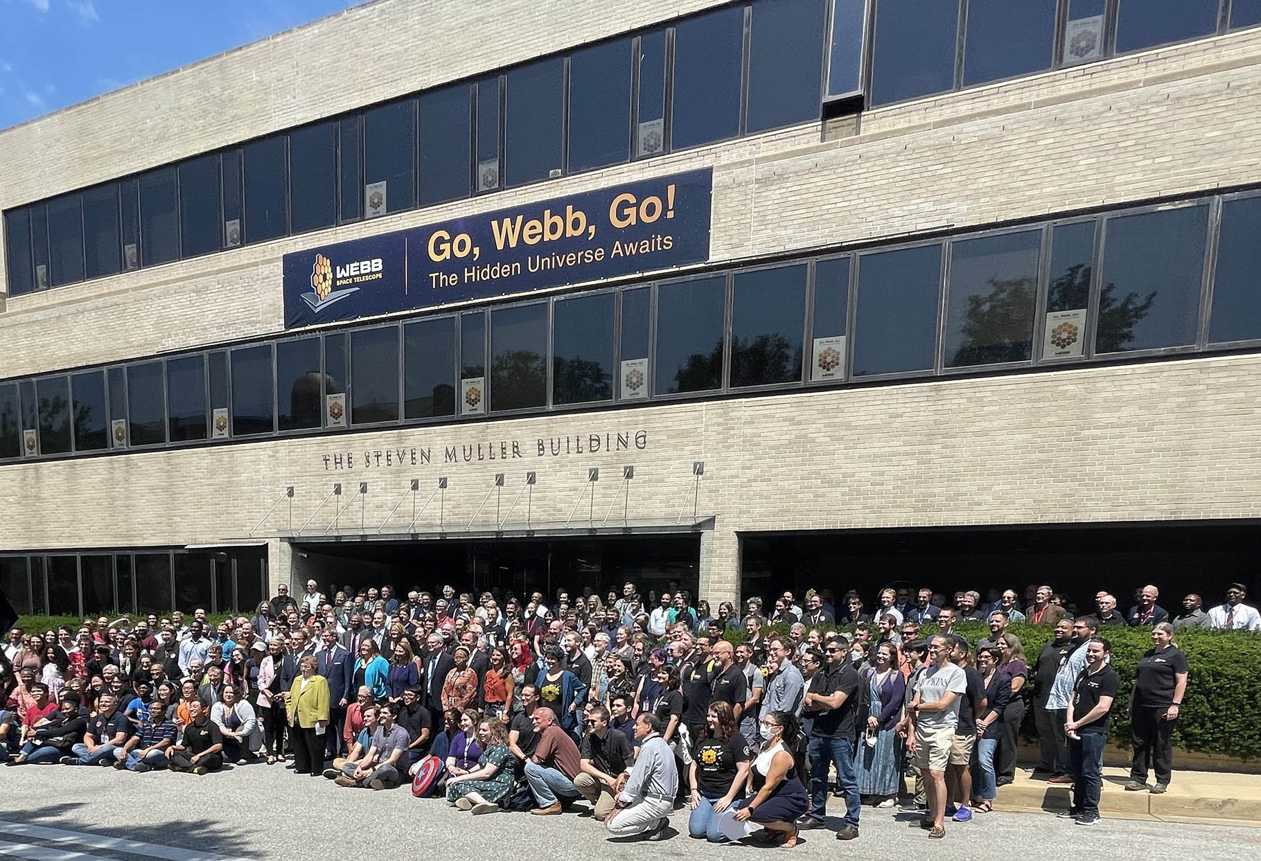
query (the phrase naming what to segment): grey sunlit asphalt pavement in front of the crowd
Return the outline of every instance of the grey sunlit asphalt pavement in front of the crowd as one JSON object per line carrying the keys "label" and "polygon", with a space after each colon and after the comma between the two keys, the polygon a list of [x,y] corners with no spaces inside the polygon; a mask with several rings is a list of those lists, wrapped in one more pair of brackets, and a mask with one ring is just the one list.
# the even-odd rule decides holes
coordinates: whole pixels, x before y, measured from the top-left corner
{"label": "grey sunlit asphalt pavement in front of the crowd", "polygon": [[[835,804],[835,802],[832,802]],[[585,804],[576,804],[583,809]],[[835,813],[836,808],[828,808]],[[860,836],[803,832],[798,858],[855,857],[977,861],[1049,857],[1194,857],[1252,861],[1261,828],[1107,818],[1083,827],[1048,813],[990,813],[947,823],[946,838],[908,828],[895,811],[863,809]],[[832,829],[839,819],[828,818]],[[687,811],[671,818],[668,840],[609,840],[589,817],[492,813],[473,817],[407,788],[346,789],[279,765],[248,765],[206,777],[132,774],[112,768],[0,768],[0,858],[29,861],[347,861],[362,857],[755,857],[778,848],[715,846],[687,837]],[[1052,848],[1054,847],[1054,850]],[[407,855],[398,855],[407,853]]]}

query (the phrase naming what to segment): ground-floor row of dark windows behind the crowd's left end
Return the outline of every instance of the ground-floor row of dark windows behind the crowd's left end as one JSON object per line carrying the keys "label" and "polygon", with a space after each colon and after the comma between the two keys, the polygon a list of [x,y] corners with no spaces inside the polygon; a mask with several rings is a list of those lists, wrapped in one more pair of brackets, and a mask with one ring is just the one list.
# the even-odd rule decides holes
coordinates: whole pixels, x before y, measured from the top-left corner
{"label": "ground-floor row of dark windows behind the crowd's left end", "polygon": [[21,615],[251,613],[266,587],[262,546],[0,555],[0,591]]}

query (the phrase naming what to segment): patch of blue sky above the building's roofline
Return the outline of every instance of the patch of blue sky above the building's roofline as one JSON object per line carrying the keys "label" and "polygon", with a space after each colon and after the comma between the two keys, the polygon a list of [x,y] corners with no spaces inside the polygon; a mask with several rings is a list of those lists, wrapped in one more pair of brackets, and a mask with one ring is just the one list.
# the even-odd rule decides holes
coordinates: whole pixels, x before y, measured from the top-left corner
{"label": "patch of blue sky above the building's roofline", "polygon": [[0,0],[0,129],[364,0]]}

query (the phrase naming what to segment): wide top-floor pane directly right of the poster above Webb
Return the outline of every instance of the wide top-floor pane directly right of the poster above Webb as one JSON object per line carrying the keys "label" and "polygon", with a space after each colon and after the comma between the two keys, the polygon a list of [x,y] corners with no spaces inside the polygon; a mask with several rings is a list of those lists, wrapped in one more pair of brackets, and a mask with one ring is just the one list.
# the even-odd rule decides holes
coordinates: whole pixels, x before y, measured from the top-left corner
{"label": "wide top-floor pane directly right of the poster above Webb", "polygon": [[565,61],[538,61],[508,72],[504,185],[547,179],[561,168]]}

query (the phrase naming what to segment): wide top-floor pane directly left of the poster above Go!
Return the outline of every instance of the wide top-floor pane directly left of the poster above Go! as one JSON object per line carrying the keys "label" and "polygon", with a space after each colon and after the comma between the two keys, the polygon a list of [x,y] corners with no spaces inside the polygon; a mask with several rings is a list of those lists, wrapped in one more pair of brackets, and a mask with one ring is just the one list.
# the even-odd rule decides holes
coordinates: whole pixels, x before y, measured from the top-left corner
{"label": "wide top-floor pane directly left of the poster above Go!", "polygon": [[630,158],[630,39],[575,50],[569,59],[569,169]]}

